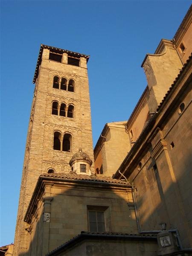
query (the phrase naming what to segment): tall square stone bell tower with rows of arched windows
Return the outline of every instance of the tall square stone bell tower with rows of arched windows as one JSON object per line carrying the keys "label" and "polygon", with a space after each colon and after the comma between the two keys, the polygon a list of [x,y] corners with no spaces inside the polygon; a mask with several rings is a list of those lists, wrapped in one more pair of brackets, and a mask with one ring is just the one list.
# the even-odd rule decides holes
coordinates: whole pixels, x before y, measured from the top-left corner
{"label": "tall square stone bell tower with rows of arched windows", "polygon": [[88,59],[88,55],[41,44],[13,255],[27,255],[29,249],[29,227],[23,218],[39,175],[70,172],[70,159],[79,148],[93,161]]}

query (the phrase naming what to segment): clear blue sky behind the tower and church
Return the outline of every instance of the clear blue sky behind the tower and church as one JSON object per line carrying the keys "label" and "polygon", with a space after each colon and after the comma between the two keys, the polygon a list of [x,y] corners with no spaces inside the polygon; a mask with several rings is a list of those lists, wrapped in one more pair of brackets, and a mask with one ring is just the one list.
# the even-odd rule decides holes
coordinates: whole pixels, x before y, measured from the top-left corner
{"label": "clear blue sky behind the tower and church", "polygon": [[[127,120],[147,82],[140,67],[172,39],[191,1],[1,1],[1,238],[14,241],[32,79],[40,44],[90,55],[94,145]],[[115,170],[116,171],[116,170]]]}

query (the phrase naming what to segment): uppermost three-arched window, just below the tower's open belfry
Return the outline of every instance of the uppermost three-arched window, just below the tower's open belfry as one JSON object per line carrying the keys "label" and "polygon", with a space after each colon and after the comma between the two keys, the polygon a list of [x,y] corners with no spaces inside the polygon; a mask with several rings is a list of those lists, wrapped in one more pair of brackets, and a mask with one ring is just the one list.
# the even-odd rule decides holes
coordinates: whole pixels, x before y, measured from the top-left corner
{"label": "uppermost three-arched window, just below the tower's open belfry", "polygon": [[52,87],[56,89],[67,90],[69,92],[74,92],[75,81],[73,79],[70,79],[69,81],[67,81],[67,79],[64,77],[60,79],[60,77],[54,76]]}

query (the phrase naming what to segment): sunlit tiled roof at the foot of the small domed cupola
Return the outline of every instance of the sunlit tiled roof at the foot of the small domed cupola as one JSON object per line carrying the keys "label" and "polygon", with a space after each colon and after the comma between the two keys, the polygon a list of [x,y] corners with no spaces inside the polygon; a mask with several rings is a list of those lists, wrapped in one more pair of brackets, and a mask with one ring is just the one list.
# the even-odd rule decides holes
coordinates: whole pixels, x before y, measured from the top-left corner
{"label": "sunlit tiled roof at the foot of the small domed cupola", "polygon": [[103,182],[103,183],[115,183],[115,184],[126,184],[131,185],[130,182],[125,180],[117,180],[111,177],[105,176],[97,176],[97,175],[82,175],[76,174],[76,172],[69,172],[69,173],[50,173],[50,174],[43,174],[40,177],[52,177],[52,178],[61,178],[66,180],[86,180],[86,181],[95,181],[95,182]]}

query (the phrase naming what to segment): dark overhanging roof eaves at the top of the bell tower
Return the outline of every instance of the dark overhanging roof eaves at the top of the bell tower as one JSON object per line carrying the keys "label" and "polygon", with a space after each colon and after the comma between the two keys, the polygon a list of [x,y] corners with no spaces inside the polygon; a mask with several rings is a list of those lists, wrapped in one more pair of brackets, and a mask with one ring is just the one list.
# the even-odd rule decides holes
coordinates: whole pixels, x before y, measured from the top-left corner
{"label": "dark overhanging roof eaves at the top of the bell tower", "polygon": [[38,61],[37,61],[37,65],[35,68],[35,74],[34,74],[34,78],[33,78],[33,84],[36,82],[36,79],[38,77],[38,70],[39,70],[39,66],[41,64],[41,60],[42,60],[42,54],[43,54],[43,49],[49,49],[50,52],[55,53],[55,54],[63,54],[63,53],[67,53],[67,55],[69,55],[72,58],[86,58],[87,62],[89,60],[90,55],[85,55],[79,52],[71,52],[69,50],[65,50],[65,49],[61,49],[61,48],[56,48],[56,47],[52,47],[52,46],[48,46],[45,44],[41,44],[40,50],[39,50],[39,55],[38,55]]}

